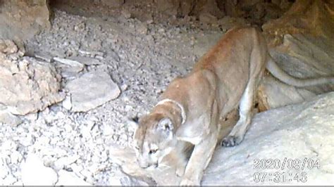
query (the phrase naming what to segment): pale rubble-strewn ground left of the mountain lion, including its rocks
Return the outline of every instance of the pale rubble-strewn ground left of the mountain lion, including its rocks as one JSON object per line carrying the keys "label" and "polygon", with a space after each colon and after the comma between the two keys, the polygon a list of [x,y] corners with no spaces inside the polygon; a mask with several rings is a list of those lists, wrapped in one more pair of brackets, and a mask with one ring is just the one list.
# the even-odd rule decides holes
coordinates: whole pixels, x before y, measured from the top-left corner
{"label": "pale rubble-strewn ground left of the mountain lion, including its rocks", "polygon": [[132,143],[128,117],[147,112],[223,34],[198,22],[171,27],[58,10],[51,25],[2,53],[4,70],[19,83],[0,79],[7,104],[0,115],[1,185],[111,184],[118,165],[109,146]]}

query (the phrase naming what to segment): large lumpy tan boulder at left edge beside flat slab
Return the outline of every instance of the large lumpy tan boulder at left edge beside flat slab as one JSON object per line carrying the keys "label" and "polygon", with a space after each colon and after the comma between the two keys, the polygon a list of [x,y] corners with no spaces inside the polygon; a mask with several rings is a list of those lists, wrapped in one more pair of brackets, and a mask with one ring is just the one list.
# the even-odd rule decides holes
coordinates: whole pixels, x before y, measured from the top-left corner
{"label": "large lumpy tan boulder at left edge beside flat slab", "polygon": [[[54,66],[23,53],[0,53],[0,103],[15,115],[44,110],[64,98],[61,76]],[[18,60],[11,60],[17,56]]]}

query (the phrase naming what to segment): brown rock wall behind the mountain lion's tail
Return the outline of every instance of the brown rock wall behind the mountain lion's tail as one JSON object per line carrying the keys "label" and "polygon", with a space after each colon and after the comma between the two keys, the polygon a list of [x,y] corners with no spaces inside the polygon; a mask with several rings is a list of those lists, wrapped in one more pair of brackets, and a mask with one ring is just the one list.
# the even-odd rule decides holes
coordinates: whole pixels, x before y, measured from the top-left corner
{"label": "brown rock wall behind the mountain lion's tail", "polygon": [[[281,18],[263,26],[271,56],[285,72],[301,79],[334,76],[333,10],[332,1],[299,0]],[[260,86],[260,110],[333,90],[333,84],[295,88],[267,75]]]}

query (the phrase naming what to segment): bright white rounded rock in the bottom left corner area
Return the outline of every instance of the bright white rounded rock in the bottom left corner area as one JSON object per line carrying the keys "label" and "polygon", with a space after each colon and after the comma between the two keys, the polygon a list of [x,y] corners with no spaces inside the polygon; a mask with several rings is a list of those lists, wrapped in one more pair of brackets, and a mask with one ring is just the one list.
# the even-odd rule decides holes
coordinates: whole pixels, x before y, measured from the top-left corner
{"label": "bright white rounded rock in the bottom left corner area", "polygon": [[37,155],[28,155],[21,165],[21,178],[25,186],[51,186],[56,183],[58,176],[54,169],[45,167]]}

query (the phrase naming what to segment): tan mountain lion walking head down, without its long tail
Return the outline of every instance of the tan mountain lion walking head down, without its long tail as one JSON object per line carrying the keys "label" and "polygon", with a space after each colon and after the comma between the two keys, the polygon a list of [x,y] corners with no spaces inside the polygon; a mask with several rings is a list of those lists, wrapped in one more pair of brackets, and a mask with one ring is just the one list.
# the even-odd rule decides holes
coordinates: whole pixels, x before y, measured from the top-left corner
{"label": "tan mountain lion walking head down, without its long tail", "polygon": [[[161,99],[178,105],[156,105],[140,120],[135,133],[140,166],[158,167],[163,157],[173,154],[179,157],[180,185],[199,185],[220,138],[218,120],[238,106],[240,119],[221,144],[235,146],[244,138],[252,119],[254,92],[270,60],[266,41],[254,27],[227,32],[189,75],[175,79],[163,93]],[[276,66],[270,67],[276,71]],[[185,150],[192,147],[190,143],[194,148],[187,162]]]}

